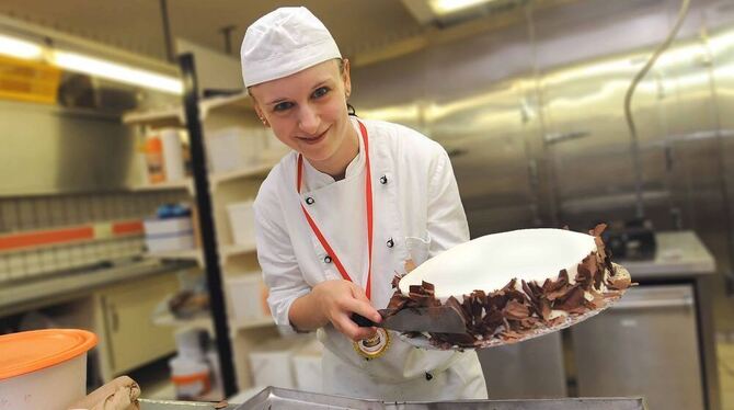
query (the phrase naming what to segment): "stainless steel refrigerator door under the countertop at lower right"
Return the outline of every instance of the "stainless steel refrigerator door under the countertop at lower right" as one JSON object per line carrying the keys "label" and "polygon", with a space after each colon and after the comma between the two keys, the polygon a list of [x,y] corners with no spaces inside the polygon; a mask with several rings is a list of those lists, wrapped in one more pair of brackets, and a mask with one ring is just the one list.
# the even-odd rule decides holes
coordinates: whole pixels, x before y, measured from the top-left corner
{"label": "stainless steel refrigerator door under the countertop at lower right", "polygon": [[691,285],[631,288],[571,328],[578,397],[643,396],[651,409],[703,409]]}

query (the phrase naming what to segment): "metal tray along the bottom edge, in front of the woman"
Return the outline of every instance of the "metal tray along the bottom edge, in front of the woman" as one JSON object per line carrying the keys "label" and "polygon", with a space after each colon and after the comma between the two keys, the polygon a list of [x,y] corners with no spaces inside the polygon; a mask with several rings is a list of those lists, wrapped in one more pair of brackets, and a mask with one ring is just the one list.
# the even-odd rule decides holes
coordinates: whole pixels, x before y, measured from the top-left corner
{"label": "metal tray along the bottom edge, in front of the woman", "polygon": [[[140,410],[213,410],[213,403],[140,400]],[[646,410],[641,398],[565,398],[542,400],[461,400],[385,402],[267,387],[226,410]]]}

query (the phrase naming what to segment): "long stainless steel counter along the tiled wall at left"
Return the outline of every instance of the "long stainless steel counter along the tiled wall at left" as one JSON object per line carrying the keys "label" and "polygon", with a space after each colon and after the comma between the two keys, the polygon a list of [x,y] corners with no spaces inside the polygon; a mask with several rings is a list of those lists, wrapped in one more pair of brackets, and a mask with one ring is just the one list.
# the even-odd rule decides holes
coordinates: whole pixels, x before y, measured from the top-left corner
{"label": "long stainless steel counter along the tiled wall at left", "polygon": [[192,265],[192,262],[163,263],[156,259],[147,259],[119,266],[10,282],[0,285],[0,317],[71,300],[118,282],[172,272]]}

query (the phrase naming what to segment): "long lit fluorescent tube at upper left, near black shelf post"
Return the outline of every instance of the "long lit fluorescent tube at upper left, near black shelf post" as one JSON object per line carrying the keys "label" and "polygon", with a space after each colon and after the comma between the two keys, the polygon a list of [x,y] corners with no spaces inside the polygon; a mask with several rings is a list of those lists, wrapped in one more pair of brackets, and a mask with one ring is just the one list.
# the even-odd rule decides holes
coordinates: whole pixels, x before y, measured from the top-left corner
{"label": "long lit fluorescent tube at upper left, near black shelf post", "polygon": [[68,70],[141,86],[172,94],[183,93],[183,82],[175,77],[159,75],[122,64],[111,62],[69,52],[54,52],[53,64]]}

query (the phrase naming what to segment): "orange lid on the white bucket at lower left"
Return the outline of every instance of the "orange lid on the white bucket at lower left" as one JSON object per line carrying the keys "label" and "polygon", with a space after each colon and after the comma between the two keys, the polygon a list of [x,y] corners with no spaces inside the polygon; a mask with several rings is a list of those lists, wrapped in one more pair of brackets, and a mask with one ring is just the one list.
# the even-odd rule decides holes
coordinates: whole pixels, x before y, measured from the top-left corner
{"label": "orange lid on the white bucket at lower left", "polygon": [[46,329],[0,335],[0,380],[50,367],[96,345],[96,335],[79,329]]}

